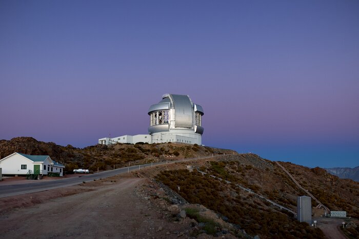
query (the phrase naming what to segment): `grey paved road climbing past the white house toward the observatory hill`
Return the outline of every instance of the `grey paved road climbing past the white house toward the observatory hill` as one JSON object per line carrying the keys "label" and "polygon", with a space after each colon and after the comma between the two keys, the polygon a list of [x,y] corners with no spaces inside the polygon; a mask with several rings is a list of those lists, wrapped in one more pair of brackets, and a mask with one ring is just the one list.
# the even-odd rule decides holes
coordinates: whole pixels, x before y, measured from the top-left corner
{"label": "grey paved road climbing past the white house toward the observatory hill", "polygon": [[[214,157],[216,157],[216,156],[221,156],[221,155],[215,155]],[[19,184],[19,185],[4,185],[4,186],[0,185],[0,198],[78,185],[84,181],[88,182],[88,181],[93,181],[94,179],[97,180],[100,178],[107,178],[107,177],[111,177],[111,176],[114,176],[117,174],[127,173],[127,172],[134,171],[134,170],[141,170],[143,168],[153,167],[153,166],[160,165],[160,164],[185,162],[185,161],[190,161],[190,160],[195,160],[195,159],[204,159],[204,158],[212,158],[212,156],[187,158],[187,159],[168,161],[168,162],[165,161],[165,162],[147,163],[147,164],[142,164],[142,165],[121,168],[121,169],[104,171],[104,172],[95,173],[95,174],[87,174],[87,175],[82,175],[79,177],[64,178],[64,179],[58,179],[58,180],[53,180],[53,181],[39,181],[36,183],[24,183],[24,184]]]}

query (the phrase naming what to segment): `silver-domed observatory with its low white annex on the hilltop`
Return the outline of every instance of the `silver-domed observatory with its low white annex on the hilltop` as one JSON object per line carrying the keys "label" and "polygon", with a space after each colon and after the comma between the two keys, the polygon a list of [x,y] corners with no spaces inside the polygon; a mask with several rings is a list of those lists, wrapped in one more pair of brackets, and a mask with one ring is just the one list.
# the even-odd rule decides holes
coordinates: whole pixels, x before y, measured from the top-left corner
{"label": "silver-domed observatory with its low white annex on the hilltop", "polygon": [[165,94],[162,100],[148,109],[150,126],[147,135],[123,135],[98,139],[99,144],[111,143],[166,143],[181,142],[202,144],[201,105],[194,104],[189,96]]}

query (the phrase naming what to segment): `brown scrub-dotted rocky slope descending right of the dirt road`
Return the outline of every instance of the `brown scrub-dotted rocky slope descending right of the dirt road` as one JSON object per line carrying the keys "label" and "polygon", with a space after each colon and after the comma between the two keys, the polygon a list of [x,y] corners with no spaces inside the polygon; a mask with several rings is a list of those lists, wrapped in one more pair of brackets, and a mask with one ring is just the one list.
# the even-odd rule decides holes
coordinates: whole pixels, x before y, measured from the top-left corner
{"label": "brown scrub-dotted rocky slope descending right of the dirt road", "polygon": [[[320,168],[280,163],[303,188],[330,210],[345,210],[348,216],[359,217],[358,182],[340,179]],[[252,237],[326,238],[320,229],[296,220],[296,198],[307,193],[275,162],[254,154],[242,154],[191,162],[193,171],[188,170],[188,164],[179,163],[176,169],[154,168],[141,173],[155,178],[179,195],[171,196],[169,201],[184,198],[190,204],[203,205]],[[317,209],[316,206],[316,201],[312,200],[313,216],[323,215],[324,209]],[[284,210],[284,207],[289,210]],[[220,232],[215,228],[220,226],[213,226],[211,230],[217,235]],[[353,229],[351,233],[352,238],[357,238],[359,230]],[[239,234],[236,236],[247,238]]]}

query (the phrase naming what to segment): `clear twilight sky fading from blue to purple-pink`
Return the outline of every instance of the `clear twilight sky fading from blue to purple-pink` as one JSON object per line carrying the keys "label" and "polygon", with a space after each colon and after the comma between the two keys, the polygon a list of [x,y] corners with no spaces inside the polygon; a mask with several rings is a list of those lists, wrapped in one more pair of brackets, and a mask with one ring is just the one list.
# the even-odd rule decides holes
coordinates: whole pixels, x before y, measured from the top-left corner
{"label": "clear twilight sky fading from blue to purple-pink", "polygon": [[0,1],[0,139],[146,134],[165,93],[203,143],[359,165],[359,2]]}

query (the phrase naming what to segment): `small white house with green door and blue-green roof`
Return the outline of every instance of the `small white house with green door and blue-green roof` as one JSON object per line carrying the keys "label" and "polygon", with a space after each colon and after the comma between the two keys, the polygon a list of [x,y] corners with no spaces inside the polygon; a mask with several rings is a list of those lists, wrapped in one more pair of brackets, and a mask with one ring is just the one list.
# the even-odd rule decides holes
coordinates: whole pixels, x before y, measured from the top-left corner
{"label": "small white house with green door and blue-green roof", "polygon": [[0,160],[3,175],[51,175],[63,176],[65,166],[48,155],[13,153]]}

